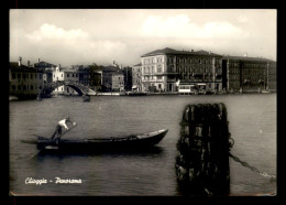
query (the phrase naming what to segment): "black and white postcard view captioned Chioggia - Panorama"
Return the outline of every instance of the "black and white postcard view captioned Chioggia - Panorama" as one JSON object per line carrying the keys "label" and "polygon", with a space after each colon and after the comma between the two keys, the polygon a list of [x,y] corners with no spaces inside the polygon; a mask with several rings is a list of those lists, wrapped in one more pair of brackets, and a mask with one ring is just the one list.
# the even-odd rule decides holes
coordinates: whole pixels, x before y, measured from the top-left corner
{"label": "black and white postcard view captioned Chioggia - Panorama", "polygon": [[276,196],[276,9],[10,9],[10,196]]}

